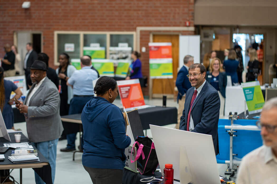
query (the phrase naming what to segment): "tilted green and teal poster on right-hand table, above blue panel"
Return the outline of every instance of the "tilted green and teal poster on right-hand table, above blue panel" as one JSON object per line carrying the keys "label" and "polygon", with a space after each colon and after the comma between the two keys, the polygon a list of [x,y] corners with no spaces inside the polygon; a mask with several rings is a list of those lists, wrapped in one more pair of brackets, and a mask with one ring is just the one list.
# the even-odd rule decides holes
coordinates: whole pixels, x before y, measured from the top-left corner
{"label": "tilted green and teal poster on right-hand table, above blue panel", "polygon": [[242,89],[249,114],[259,113],[262,111],[265,100],[261,92],[259,81],[242,83]]}

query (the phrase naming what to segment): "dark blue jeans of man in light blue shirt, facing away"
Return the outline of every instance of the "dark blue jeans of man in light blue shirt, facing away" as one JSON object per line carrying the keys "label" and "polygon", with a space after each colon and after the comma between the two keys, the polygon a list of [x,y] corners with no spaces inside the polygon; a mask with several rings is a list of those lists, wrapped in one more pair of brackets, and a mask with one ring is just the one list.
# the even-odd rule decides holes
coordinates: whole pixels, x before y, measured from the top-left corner
{"label": "dark blue jeans of man in light blue shirt, facing away", "polygon": [[[92,96],[86,96],[86,97],[73,97],[70,101],[70,106],[69,106],[69,111],[68,114],[79,114],[82,113],[84,106],[86,103],[91,100]],[[66,148],[68,149],[75,149],[75,140],[76,140],[76,134],[67,134],[66,139],[67,139],[67,146]],[[81,148],[83,149],[84,145],[84,139],[83,135],[81,138]]]}

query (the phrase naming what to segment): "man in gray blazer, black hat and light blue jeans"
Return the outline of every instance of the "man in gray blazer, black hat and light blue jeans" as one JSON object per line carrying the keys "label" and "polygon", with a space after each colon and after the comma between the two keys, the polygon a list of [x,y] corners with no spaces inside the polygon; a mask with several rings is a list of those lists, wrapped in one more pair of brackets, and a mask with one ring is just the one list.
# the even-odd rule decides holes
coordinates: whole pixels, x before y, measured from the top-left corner
{"label": "man in gray blazer, black hat and light blue jeans", "polygon": [[[17,108],[24,113],[29,140],[49,161],[54,183],[57,144],[63,126],[60,117],[60,95],[55,84],[46,76],[47,67],[36,60],[30,67],[32,87],[24,103]],[[35,173],[36,183],[43,183]]]}

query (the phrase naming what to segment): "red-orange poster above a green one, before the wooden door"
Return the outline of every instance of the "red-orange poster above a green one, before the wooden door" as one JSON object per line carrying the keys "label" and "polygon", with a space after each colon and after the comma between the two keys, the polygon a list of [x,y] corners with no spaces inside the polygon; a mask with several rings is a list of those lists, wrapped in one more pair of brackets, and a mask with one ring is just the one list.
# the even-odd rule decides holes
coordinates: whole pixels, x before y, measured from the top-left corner
{"label": "red-orange poster above a green one, before the wooden door", "polygon": [[149,59],[172,58],[171,43],[149,43]]}

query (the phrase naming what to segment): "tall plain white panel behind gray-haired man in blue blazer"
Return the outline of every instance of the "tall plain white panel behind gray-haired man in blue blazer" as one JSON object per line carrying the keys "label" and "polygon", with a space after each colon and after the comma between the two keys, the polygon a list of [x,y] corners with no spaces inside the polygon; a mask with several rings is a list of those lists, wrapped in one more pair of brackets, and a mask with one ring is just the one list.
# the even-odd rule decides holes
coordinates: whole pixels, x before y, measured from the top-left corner
{"label": "tall plain white panel behind gray-haired man in blue blazer", "polygon": [[184,65],[186,55],[192,55],[194,63],[200,63],[200,35],[179,36],[179,68]]}

